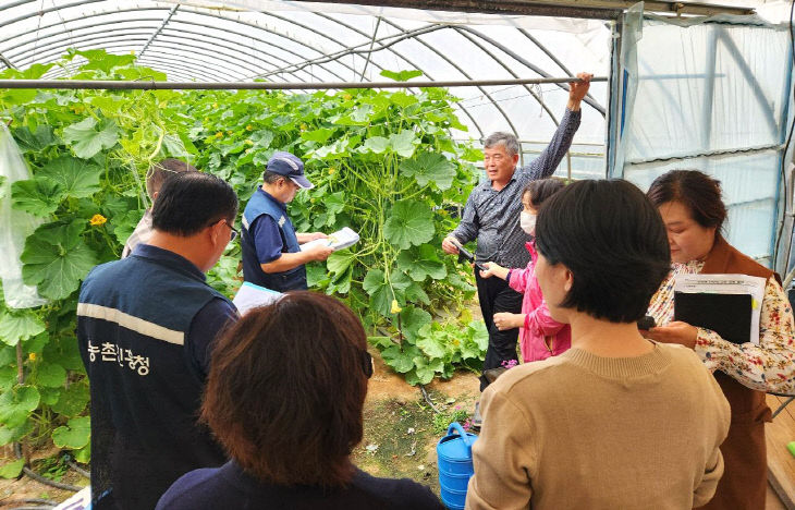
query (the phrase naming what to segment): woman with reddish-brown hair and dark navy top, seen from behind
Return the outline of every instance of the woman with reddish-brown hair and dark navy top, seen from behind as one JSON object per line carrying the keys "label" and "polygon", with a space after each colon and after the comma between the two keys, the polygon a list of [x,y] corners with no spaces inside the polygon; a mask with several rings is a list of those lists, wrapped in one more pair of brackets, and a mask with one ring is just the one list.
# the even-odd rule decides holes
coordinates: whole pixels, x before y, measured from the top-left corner
{"label": "woman with reddish-brown hair and dark navy top, seen from behind", "polygon": [[338,300],[289,292],[247,313],[213,350],[201,411],[231,460],[187,473],[157,508],[441,509],[427,487],[351,462],[371,375],[362,323]]}

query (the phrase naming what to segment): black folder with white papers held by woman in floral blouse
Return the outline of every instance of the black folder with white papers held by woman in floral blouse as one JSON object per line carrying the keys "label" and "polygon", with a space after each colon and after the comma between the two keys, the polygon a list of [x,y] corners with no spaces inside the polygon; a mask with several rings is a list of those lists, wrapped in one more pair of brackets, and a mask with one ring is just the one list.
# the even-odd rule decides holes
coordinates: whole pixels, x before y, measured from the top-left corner
{"label": "black folder with white papers held by woman in floral blouse", "polygon": [[732,343],[758,345],[766,283],[747,275],[678,275],[674,320],[711,329]]}

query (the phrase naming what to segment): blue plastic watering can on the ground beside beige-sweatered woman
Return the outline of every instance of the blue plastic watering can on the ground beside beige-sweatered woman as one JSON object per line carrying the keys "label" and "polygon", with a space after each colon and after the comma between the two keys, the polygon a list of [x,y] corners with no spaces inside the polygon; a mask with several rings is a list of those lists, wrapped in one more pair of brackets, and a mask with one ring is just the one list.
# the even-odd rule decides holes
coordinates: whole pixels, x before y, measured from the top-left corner
{"label": "blue plastic watering can on the ground beside beige-sweatered woman", "polygon": [[475,434],[467,433],[458,422],[453,422],[448,427],[448,435],[436,446],[442,502],[450,510],[464,509],[466,487],[475,474],[472,446],[476,440]]}

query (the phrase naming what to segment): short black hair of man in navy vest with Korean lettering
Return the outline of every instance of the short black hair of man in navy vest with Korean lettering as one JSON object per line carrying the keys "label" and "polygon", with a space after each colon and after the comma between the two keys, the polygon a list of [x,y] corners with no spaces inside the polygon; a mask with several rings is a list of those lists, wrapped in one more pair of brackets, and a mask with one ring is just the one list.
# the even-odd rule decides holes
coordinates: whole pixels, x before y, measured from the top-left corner
{"label": "short black hair of man in navy vest with Korean lettering", "polygon": [[210,173],[183,172],[166,180],[151,210],[151,226],[174,235],[193,235],[225,219],[234,222],[237,195]]}

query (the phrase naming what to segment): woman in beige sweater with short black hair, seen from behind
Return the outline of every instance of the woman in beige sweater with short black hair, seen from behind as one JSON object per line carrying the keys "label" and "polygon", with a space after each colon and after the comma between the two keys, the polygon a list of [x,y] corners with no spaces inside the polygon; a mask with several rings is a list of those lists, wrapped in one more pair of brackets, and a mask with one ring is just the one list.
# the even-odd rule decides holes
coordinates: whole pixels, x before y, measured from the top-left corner
{"label": "woman in beige sweater with short black hair, seen from behind", "polygon": [[536,275],[564,354],[482,394],[467,509],[689,509],[723,472],[729,404],[688,349],[636,321],[668,274],[659,214],[624,181],[580,181],[541,208]]}

